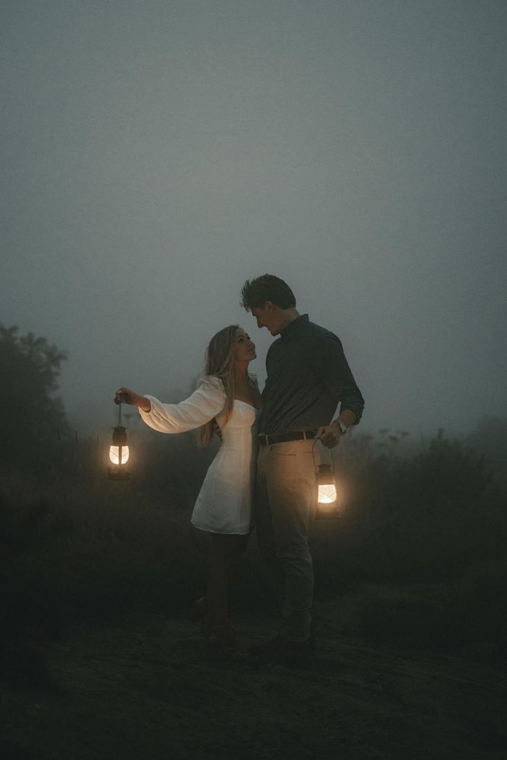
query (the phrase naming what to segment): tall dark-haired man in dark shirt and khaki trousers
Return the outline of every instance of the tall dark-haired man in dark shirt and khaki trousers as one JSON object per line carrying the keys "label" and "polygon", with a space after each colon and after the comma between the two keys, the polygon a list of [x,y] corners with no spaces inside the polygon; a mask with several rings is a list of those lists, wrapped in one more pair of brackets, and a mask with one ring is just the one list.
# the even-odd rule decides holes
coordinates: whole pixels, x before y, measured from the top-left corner
{"label": "tall dark-haired man in dark shirt and khaki trousers", "polygon": [[315,644],[308,546],[318,463],[315,438],[327,448],[337,446],[347,428],[359,423],[364,401],[339,338],[314,325],[307,314],[299,314],[284,280],[272,274],[246,280],[241,296],[258,328],[280,336],[266,357],[255,529],[261,553],[277,579],[283,626],[276,638],[252,647],[251,654],[296,664],[308,660]]}

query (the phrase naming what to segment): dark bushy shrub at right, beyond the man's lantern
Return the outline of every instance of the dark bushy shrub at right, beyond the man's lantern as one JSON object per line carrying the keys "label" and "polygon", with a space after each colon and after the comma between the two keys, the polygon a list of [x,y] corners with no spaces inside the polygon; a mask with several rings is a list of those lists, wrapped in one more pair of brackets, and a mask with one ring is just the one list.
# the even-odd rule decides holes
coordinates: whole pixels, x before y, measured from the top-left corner
{"label": "dark bushy shrub at right, beyond the man's lantern", "polygon": [[361,496],[344,511],[338,551],[348,559],[353,549],[363,578],[439,582],[502,556],[505,494],[482,455],[442,432],[413,457],[372,458],[358,477]]}

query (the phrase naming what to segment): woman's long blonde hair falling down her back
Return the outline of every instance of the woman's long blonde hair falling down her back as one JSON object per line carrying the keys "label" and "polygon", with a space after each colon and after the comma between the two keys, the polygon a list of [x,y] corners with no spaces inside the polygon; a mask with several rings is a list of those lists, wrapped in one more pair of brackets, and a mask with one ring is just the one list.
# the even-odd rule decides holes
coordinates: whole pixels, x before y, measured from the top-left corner
{"label": "woman's long blonde hair falling down her back", "polygon": [[[234,404],[233,358],[236,348],[236,330],[239,330],[239,325],[229,325],[211,338],[206,349],[206,366],[204,367],[204,375],[213,375],[223,382],[223,389],[227,397],[225,404],[226,423],[233,411]],[[210,420],[209,423],[203,425],[199,435],[201,444],[210,443],[216,429],[215,420]]]}

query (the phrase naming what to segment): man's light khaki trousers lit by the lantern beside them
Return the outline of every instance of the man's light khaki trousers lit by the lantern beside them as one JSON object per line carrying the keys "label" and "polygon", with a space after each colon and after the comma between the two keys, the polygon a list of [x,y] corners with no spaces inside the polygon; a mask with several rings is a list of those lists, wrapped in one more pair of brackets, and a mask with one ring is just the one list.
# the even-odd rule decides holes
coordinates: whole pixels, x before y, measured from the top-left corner
{"label": "man's light khaki trousers lit by the lantern beside them", "polygon": [[314,441],[262,445],[255,484],[255,530],[258,546],[277,580],[282,635],[303,641],[310,635],[313,563],[308,524],[314,510]]}

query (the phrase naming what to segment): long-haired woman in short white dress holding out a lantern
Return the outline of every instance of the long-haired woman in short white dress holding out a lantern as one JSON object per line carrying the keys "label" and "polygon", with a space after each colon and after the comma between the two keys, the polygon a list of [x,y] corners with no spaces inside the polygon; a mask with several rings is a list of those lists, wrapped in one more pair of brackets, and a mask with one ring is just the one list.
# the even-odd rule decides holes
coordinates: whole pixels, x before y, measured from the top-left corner
{"label": "long-haired woman in short white dress holding out a lantern", "polygon": [[144,422],[160,432],[201,428],[201,442],[214,432],[220,449],[204,478],[192,512],[192,524],[211,534],[208,591],[192,607],[192,619],[214,654],[234,654],[236,632],[229,622],[227,583],[230,568],[246,550],[252,529],[252,489],[255,476],[255,419],[261,394],[248,368],[255,345],[242,328],[230,325],[211,338],[204,377],[194,393],[180,404],[162,404],[119,388],[115,401],[134,404]]}

